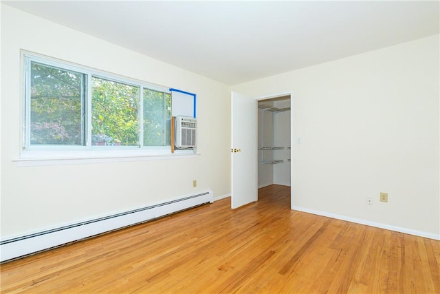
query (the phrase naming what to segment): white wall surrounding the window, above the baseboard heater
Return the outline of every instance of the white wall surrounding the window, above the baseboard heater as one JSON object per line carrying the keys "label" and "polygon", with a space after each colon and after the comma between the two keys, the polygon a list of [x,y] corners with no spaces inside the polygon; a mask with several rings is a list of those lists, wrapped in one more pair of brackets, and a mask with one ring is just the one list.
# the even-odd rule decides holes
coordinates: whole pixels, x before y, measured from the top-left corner
{"label": "white wall surrounding the window, above the baseboard heater", "polygon": [[[142,36],[141,36],[142,37]],[[20,50],[197,94],[197,158],[19,167]],[[1,3],[1,239],[212,189],[230,193],[230,87]],[[215,116],[222,123],[211,120]],[[176,171],[184,170],[177,174]],[[197,188],[192,188],[197,180]]]}

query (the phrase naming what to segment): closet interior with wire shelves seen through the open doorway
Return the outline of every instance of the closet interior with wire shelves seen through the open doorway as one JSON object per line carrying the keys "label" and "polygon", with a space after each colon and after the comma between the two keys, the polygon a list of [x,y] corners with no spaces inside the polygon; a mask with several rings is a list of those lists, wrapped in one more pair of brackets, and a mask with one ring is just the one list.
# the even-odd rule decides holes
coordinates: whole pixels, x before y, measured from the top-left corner
{"label": "closet interior with wire shelves seen through the open doorway", "polygon": [[290,95],[258,100],[258,188],[291,185]]}

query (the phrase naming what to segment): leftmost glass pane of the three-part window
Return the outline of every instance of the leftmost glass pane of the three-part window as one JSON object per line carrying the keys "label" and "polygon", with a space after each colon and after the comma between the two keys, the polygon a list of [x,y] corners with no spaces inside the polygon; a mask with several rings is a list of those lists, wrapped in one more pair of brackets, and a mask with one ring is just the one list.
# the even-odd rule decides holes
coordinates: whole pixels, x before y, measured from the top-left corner
{"label": "leftmost glass pane of the three-part window", "polygon": [[31,62],[30,144],[83,145],[85,74]]}

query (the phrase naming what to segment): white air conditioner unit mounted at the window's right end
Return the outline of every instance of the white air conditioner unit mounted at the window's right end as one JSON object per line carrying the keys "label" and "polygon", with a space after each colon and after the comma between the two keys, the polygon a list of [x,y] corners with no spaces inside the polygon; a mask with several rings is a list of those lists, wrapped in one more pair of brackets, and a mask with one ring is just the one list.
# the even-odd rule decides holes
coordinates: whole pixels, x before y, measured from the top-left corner
{"label": "white air conditioner unit mounted at the window's right end", "polygon": [[197,147],[197,118],[176,116],[175,147],[177,149]]}

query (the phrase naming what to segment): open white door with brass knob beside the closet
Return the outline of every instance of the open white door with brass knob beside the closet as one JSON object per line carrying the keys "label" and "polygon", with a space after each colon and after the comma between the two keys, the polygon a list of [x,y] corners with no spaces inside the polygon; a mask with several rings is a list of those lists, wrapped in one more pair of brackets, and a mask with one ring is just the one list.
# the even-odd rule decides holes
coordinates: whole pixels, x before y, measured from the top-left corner
{"label": "open white door with brass knob beside the closet", "polygon": [[258,200],[256,107],[254,98],[232,92],[231,207],[233,209]]}

